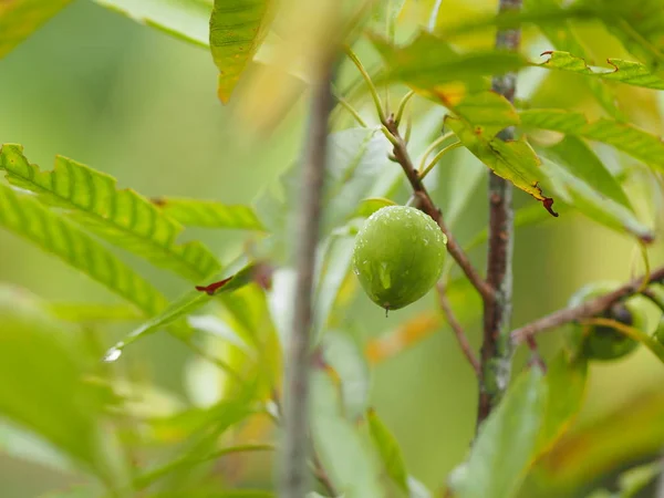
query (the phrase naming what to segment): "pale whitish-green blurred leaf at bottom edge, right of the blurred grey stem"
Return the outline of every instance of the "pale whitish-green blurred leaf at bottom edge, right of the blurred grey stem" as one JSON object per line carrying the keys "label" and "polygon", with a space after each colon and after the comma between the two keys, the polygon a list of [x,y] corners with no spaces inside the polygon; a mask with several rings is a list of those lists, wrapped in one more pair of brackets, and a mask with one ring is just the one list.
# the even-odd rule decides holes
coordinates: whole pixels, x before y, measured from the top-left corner
{"label": "pale whitish-green blurred leaf at bottom edge, right of the blurred grey stem", "polygon": [[323,468],[340,494],[349,498],[384,496],[375,461],[361,434],[340,413],[332,378],[315,371],[311,378],[311,433]]}

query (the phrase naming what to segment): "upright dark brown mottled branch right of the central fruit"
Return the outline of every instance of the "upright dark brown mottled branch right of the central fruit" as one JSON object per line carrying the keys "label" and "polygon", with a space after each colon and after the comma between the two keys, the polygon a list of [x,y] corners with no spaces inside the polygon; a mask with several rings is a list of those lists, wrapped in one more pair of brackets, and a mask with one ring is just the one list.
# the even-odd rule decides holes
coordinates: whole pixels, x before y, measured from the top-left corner
{"label": "upright dark brown mottled branch right of the central fruit", "polygon": [[[521,0],[500,0],[499,12],[521,8]],[[516,51],[520,43],[519,30],[499,31],[496,48]],[[515,73],[495,76],[492,90],[513,101]],[[513,128],[501,131],[502,141],[513,138]],[[479,385],[477,427],[498,404],[507,388],[511,370],[512,350],[509,322],[512,300],[513,209],[511,184],[489,172],[489,238],[487,283],[494,290],[492,299],[485,300],[484,340],[481,345],[483,375]]]}

